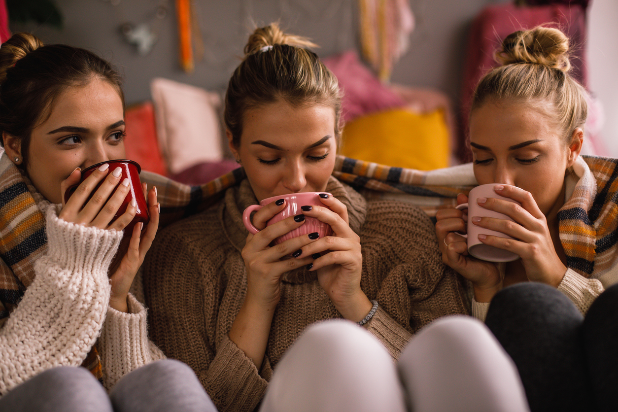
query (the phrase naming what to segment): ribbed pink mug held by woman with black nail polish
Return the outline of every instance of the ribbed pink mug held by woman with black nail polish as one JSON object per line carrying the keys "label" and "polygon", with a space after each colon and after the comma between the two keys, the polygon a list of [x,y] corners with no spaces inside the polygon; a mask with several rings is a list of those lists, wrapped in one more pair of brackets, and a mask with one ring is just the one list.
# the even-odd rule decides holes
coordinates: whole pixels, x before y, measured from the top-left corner
{"label": "ribbed pink mug held by woman with black nail polish", "polygon": [[[251,214],[253,211],[258,211],[269,203],[273,203],[276,200],[286,200],[286,207],[275,216],[273,216],[266,225],[282,221],[286,217],[296,216],[302,214],[300,210],[301,206],[326,206],[320,201],[320,193],[326,193],[326,195],[332,196],[331,193],[324,191],[305,191],[302,193],[289,193],[288,195],[273,196],[266,198],[260,202],[260,204],[252,204],[242,213],[242,221],[245,224],[247,230],[255,235],[260,232],[251,222]],[[305,223],[297,227],[296,229],[287,232],[285,235],[279,236],[274,240],[274,243],[285,242],[288,239],[293,239],[308,233],[318,232],[320,238],[324,236],[330,236],[332,234],[331,225],[319,221],[315,217],[305,216]]]}

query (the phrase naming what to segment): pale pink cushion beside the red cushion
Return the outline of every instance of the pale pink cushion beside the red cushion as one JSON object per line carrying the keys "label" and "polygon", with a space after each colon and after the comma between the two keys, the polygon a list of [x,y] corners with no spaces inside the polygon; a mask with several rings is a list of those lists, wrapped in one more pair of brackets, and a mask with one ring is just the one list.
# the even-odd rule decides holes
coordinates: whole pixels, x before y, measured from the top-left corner
{"label": "pale pink cushion beside the red cushion", "polygon": [[155,78],[150,85],[159,145],[171,174],[223,159],[217,93]]}

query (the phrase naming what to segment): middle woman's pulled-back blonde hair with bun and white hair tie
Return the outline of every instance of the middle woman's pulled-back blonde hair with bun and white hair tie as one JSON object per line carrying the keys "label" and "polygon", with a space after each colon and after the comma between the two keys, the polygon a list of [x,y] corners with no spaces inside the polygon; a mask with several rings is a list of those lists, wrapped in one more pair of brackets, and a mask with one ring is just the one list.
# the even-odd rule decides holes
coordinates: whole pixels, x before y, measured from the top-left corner
{"label": "middle woman's pulled-back blonde hair with bun and white hair tie", "polygon": [[277,23],[256,28],[245,46],[245,57],[227,85],[224,121],[238,147],[247,109],[283,99],[292,106],[332,107],[335,135],[341,137],[341,94],[337,78],[309,47],[305,37],[287,35]]}

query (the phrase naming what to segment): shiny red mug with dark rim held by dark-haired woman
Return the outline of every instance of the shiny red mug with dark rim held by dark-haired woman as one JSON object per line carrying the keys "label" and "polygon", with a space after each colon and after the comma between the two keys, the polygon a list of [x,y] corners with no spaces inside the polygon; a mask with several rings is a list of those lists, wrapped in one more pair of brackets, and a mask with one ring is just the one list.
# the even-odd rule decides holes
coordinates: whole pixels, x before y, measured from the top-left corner
{"label": "shiny red mug with dark rim held by dark-haired woman", "polygon": [[[124,201],[116,212],[116,215],[112,219],[112,222],[115,221],[119,216],[121,216],[125,211],[127,211],[127,206],[129,206],[130,201],[135,199],[137,209],[135,211],[135,217],[133,217],[133,221],[130,222],[127,227],[125,227],[125,233],[132,233],[133,226],[137,222],[143,222],[144,224],[146,224],[150,220],[150,214],[148,214],[148,204],[146,203],[146,198],[144,197],[144,193],[142,190],[142,182],[140,181],[140,172],[142,171],[142,167],[140,167],[137,162],[127,159],[116,159],[106,162],[100,162],[82,170],[82,179],[80,180],[80,183],[82,183],[88,176],[90,176],[93,171],[98,169],[99,166],[106,163],[109,164],[107,174],[113,172],[116,167],[120,167],[122,170],[120,181],[122,182],[122,180],[124,179],[129,179],[129,193],[127,193],[127,197],[124,198]],[[104,179],[102,179],[101,182],[96,185],[92,193],[95,193],[99,186],[101,186],[103,180]],[[65,203],[69,200],[70,196],[74,193],[75,189],[77,189],[78,186],[79,183],[67,189],[67,191],[64,193]],[[88,197],[88,200],[90,200],[91,197],[92,194]]]}

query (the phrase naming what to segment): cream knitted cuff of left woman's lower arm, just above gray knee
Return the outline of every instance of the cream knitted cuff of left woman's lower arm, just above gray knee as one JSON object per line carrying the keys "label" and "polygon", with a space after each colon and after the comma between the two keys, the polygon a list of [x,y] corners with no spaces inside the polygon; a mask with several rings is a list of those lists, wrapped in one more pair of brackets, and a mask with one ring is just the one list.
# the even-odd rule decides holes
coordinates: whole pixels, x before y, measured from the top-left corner
{"label": "cream knitted cuff of left woman's lower arm, just above gray knee", "polygon": [[163,352],[148,340],[146,308],[129,294],[129,313],[108,306],[99,348],[103,367],[103,385],[110,390],[133,369],[164,359]]}

